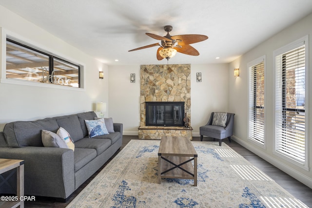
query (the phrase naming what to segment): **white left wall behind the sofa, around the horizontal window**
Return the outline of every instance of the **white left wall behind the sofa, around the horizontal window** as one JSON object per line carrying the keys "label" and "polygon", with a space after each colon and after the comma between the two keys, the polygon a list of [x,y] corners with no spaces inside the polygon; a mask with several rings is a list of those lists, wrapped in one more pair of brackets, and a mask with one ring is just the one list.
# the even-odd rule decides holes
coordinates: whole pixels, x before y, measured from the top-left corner
{"label": "white left wall behind the sofa, around the horizontal window", "polygon": [[[108,102],[108,67],[79,51],[33,23],[0,6],[0,27],[40,49],[83,64],[85,90],[73,91],[0,82],[0,131],[5,123],[16,120],[35,120],[48,116],[95,110],[98,101]],[[4,29],[4,30],[3,30]],[[4,41],[3,41],[4,39]],[[5,47],[1,36],[0,48]],[[0,72],[5,70],[5,58],[0,56]],[[4,54],[5,57],[5,54]],[[104,71],[104,80],[98,71]],[[2,77],[2,79],[5,77]],[[109,112],[105,113],[106,115]]]}

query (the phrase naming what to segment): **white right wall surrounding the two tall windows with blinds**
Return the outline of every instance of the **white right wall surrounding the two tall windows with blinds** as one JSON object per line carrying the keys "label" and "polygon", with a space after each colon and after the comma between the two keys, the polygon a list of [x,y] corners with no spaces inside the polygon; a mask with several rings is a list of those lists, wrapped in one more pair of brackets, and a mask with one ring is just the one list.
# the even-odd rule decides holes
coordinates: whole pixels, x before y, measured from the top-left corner
{"label": "white right wall surrounding the two tall windows with blinds", "polygon": [[[243,32],[243,31],[242,31]],[[229,79],[229,111],[236,113],[235,125],[234,125],[234,139],[250,149],[254,153],[258,154],[268,162],[272,163],[279,169],[292,175],[297,180],[303,182],[310,188],[312,188],[312,172],[310,170],[304,170],[302,167],[294,165],[290,160],[282,159],[281,157],[273,154],[274,152],[274,58],[273,51],[279,49],[299,38],[309,36],[309,50],[308,53],[308,94],[306,97],[306,116],[308,117],[308,126],[306,133],[308,140],[306,145],[308,146],[308,165],[312,166],[312,14],[306,18],[298,21],[292,26],[286,28],[280,33],[276,34],[272,38],[262,42],[258,46],[254,47],[251,51],[234,60],[229,65],[229,71],[233,71],[234,68],[239,67],[240,76],[232,79],[230,73]],[[266,56],[266,68],[265,68],[265,149],[250,142],[248,137],[248,68],[247,64],[256,58]]]}

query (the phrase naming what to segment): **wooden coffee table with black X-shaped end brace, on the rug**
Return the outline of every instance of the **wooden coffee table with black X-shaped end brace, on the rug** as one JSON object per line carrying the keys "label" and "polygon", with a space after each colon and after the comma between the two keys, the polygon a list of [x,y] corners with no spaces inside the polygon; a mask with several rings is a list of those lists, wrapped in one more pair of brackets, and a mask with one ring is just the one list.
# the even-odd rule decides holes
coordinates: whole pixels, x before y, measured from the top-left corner
{"label": "wooden coffee table with black X-shaped end brace, on the rug", "polygon": [[158,184],[162,178],[193,179],[194,186],[197,186],[197,152],[187,137],[161,138],[158,150]]}

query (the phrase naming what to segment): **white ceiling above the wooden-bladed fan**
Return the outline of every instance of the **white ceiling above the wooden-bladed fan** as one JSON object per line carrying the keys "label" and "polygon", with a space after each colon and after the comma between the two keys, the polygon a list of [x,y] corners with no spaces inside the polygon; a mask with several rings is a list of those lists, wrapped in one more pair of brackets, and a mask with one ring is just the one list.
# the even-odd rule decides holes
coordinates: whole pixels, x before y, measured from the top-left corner
{"label": "white ceiling above the wooden-bladed fan", "polygon": [[[312,12],[312,0],[0,0],[0,5],[107,65],[166,64],[152,47],[165,36],[200,34],[199,56],[170,64],[228,63]],[[215,57],[220,57],[215,59]],[[119,61],[115,61],[118,59]]]}

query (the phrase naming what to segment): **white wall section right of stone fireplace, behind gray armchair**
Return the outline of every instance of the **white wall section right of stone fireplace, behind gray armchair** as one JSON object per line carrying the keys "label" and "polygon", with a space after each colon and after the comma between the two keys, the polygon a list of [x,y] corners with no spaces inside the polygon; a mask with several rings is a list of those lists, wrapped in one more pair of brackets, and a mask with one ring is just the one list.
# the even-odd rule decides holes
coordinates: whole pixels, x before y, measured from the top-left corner
{"label": "white wall section right of stone fireplace, behind gray armchair", "polygon": [[[196,82],[196,73],[201,82]],[[199,136],[199,127],[205,125],[211,112],[228,112],[228,64],[191,65],[191,123],[193,136]],[[232,113],[232,112],[231,112]]]}

